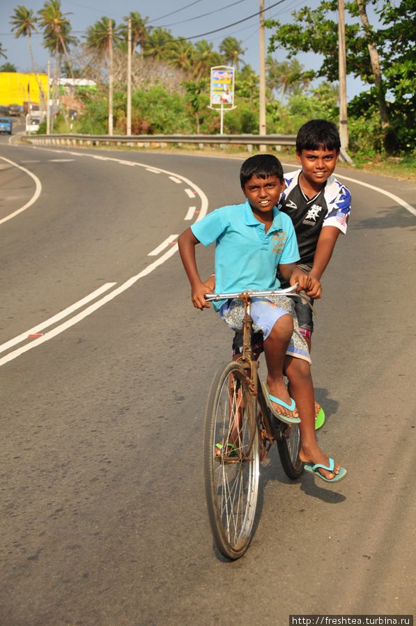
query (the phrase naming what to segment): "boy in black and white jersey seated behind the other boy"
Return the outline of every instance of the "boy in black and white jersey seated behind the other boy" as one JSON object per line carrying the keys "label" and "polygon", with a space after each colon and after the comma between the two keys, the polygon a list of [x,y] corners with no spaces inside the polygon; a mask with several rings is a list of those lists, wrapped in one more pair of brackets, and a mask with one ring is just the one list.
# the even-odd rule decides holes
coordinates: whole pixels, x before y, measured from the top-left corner
{"label": "boy in black and white jersey seated behind the other boy", "polygon": [[[301,165],[284,175],[286,189],[279,200],[279,210],[288,214],[295,227],[300,260],[298,265],[310,276],[321,281],[340,233],[346,233],[350,215],[351,194],[332,174],[339,159],[341,141],[337,127],[327,120],[310,120],[302,125],[296,136],[296,159]],[[288,281],[279,276],[282,288]],[[213,276],[208,280],[214,288]],[[300,333],[305,337],[309,351],[314,331],[312,307],[300,299],[295,300],[295,311]],[[263,337],[254,336],[254,344],[261,351]],[[236,332],[233,353],[242,347],[242,333]],[[316,428],[320,428],[325,415],[316,403]]]}

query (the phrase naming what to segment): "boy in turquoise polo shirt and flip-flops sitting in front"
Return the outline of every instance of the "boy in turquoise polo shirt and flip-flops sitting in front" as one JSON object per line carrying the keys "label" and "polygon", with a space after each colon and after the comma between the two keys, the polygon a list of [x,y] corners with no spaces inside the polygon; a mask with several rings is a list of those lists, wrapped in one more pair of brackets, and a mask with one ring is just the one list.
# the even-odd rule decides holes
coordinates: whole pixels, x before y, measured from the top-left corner
{"label": "boy in turquoise polo shirt and flip-flops sitting in front", "polygon": [[[215,291],[276,290],[280,287],[277,269],[291,285],[305,290],[311,298],[321,297],[321,283],[307,274],[300,260],[291,219],[279,212],[277,203],[284,189],[282,165],[272,155],[255,155],[242,164],[240,184],[245,204],[223,207],[187,228],[180,235],[180,256],[192,288],[196,308],[208,308],[204,294],[212,288],[201,281],[195,259],[195,246],[216,242]],[[268,368],[265,389],[272,413],[287,423],[299,417],[302,448],[300,460],[305,469],[329,482],[343,478],[346,470],[319,448],[315,437],[314,388],[310,373],[309,350],[298,332],[293,302],[284,296],[254,299],[254,329],[263,334]],[[241,328],[238,299],[214,303],[222,319],[233,329]],[[284,385],[284,373],[289,380]]]}

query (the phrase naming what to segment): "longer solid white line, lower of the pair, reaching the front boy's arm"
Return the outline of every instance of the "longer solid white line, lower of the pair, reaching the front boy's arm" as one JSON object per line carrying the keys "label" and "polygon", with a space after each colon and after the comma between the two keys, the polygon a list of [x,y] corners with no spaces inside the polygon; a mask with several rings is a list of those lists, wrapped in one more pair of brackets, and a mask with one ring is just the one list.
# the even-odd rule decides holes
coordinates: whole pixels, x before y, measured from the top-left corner
{"label": "longer solid white line, lower of the pair, reaching the front boy's arm", "polygon": [[159,265],[162,265],[162,263],[164,263],[172,255],[174,255],[174,253],[176,253],[177,250],[178,250],[178,244],[175,244],[174,246],[171,247],[170,250],[165,252],[163,256],[155,260],[153,263],[151,263],[151,265],[148,265],[148,267],[146,267],[146,269],[144,269],[142,272],[140,272],[136,276],[132,276],[132,278],[129,279],[128,281],[125,281],[123,285],[120,285],[120,287],[114,289],[109,294],[105,295],[105,297],[103,297],[102,299],[98,300],[97,302],[94,302],[93,304],[91,304],[91,306],[84,308],[84,311],[81,311],[81,313],[78,313],[78,315],[75,315],[70,320],[63,322],[63,324],[61,324],[60,326],[56,326],[54,329],[52,329],[48,333],[45,333],[45,335],[43,335],[42,337],[38,337],[34,339],[33,341],[31,341],[30,343],[27,343],[26,345],[22,345],[22,347],[17,348],[17,350],[13,350],[13,352],[9,352],[8,354],[6,354],[5,357],[0,359],[0,366],[4,365],[5,363],[8,363],[9,361],[13,361],[13,359],[16,359],[17,357],[19,357],[20,354],[24,354],[24,352],[31,350],[33,347],[38,347],[38,345],[45,343],[45,341],[49,341],[49,339],[52,339],[53,337],[55,337],[56,335],[59,335],[61,332],[65,331],[71,326],[74,326],[81,320],[84,320],[84,318],[86,318],[88,315],[91,315],[91,313],[94,313],[94,311],[97,311],[98,308],[100,308],[104,304],[107,304],[107,302],[110,302],[116,296],[123,293],[123,291],[132,287],[132,285],[134,285],[134,283],[136,283],[139,279],[153,272],[153,269],[156,269],[156,267],[158,267]]}

